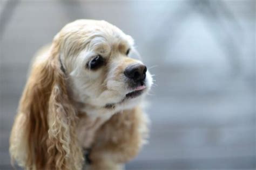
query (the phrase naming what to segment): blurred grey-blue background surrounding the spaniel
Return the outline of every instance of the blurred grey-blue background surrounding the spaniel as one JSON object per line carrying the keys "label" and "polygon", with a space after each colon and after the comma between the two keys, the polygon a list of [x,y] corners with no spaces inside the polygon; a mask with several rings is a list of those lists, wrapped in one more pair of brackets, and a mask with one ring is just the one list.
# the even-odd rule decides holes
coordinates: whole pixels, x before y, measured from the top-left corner
{"label": "blurred grey-blue background surrounding the spaniel", "polygon": [[255,169],[255,1],[0,0],[1,170],[33,54],[80,18],[130,34],[155,75],[126,169]]}

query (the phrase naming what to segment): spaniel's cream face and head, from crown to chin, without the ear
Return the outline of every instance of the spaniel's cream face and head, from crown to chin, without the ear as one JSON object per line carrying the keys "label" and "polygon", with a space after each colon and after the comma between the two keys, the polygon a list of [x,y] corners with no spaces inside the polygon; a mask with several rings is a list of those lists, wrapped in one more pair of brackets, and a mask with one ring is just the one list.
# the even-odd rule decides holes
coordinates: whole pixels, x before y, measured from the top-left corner
{"label": "spaniel's cream face and head, from crown to chin, without the ear", "polygon": [[94,107],[131,108],[150,89],[152,77],[142,61],[129,57],[133,40],[104,21],[77,20],[60,39],[73,99]]}

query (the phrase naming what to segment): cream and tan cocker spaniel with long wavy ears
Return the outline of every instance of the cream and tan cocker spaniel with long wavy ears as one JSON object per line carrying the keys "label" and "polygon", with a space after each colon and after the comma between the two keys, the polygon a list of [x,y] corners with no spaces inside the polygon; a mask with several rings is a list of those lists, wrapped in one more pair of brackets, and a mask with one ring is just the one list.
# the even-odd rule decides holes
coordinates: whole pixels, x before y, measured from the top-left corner
{"label": "cream and tan cocker spaniel with long wavy ears", "polygon": [[[32,63],[10,136],[26,169],[123,169],[148,134],[152,76],[133,39],[104,20],[69,23]],[[85,163],[87,162],[87,163]]]}

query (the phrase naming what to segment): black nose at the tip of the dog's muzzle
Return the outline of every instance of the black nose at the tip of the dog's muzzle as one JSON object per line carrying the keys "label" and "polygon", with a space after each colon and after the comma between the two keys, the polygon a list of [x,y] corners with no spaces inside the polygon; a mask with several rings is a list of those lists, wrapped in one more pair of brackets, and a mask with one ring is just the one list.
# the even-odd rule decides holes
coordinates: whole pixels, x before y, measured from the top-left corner
{"label": "black nose at the tip of the dog's muzzle", "polygon": [[140,63],[128,66],[124,74],[126,77],[132,79],[134,82],[143,81],[146,78],[147,67]]}

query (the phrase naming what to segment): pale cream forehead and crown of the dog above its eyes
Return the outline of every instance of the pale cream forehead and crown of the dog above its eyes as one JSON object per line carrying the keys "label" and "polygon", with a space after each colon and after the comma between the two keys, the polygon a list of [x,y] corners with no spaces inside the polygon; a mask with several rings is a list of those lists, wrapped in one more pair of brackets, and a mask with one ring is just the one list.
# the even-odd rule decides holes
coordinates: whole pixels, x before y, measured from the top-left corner
{"label": "pale cream forehead and crown of the dog above its eyes", "polygon": [[80,52],[94,51],[125,53],[133,46],[133,39],[118,27],[102,20],[76,20],[64,26],[57,34],[63,56],[75,56]]}

